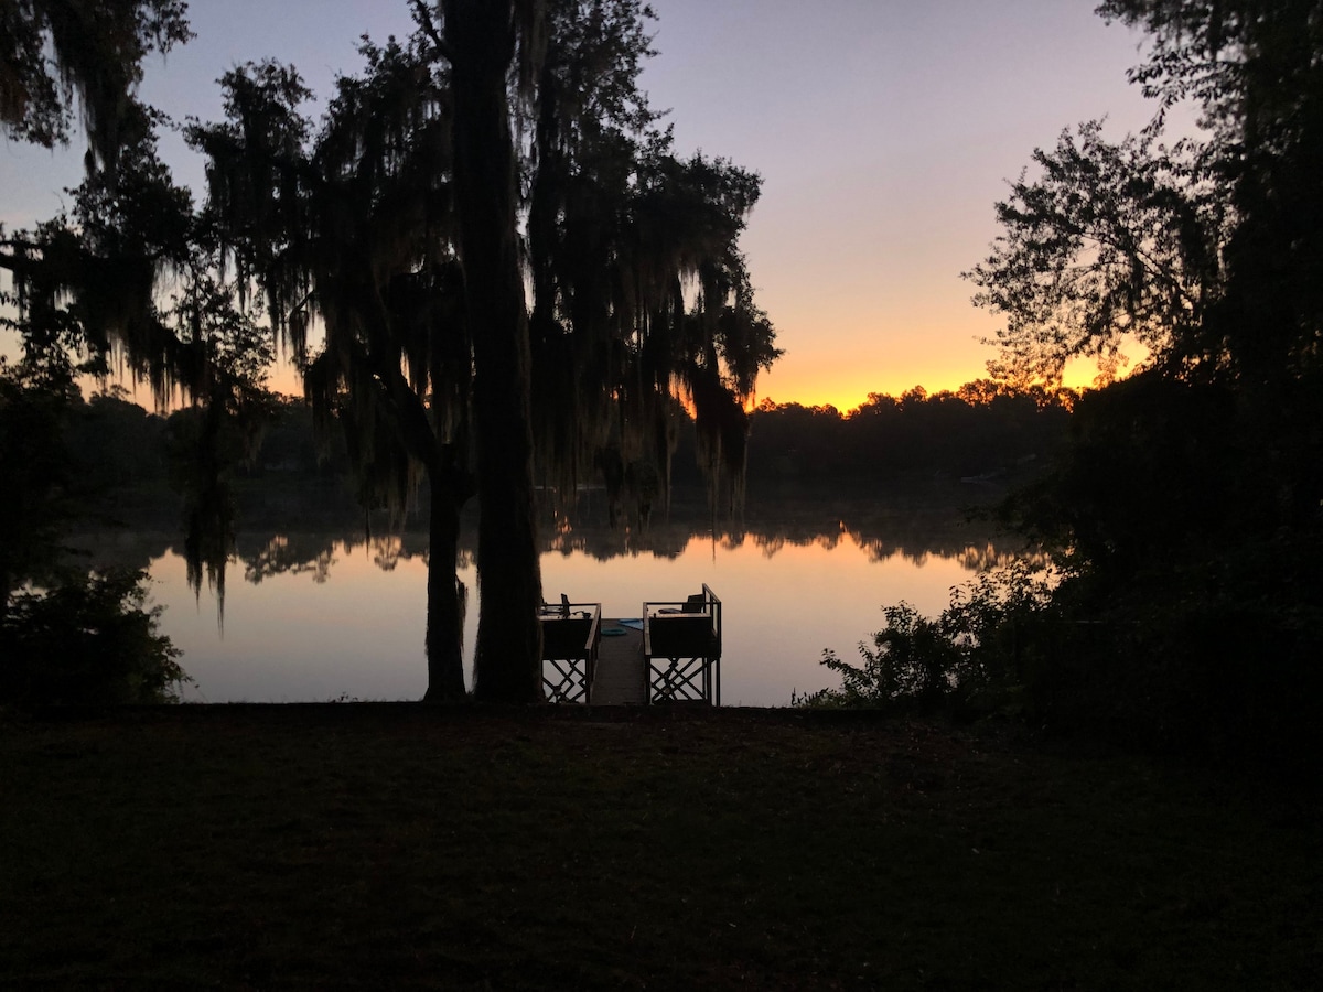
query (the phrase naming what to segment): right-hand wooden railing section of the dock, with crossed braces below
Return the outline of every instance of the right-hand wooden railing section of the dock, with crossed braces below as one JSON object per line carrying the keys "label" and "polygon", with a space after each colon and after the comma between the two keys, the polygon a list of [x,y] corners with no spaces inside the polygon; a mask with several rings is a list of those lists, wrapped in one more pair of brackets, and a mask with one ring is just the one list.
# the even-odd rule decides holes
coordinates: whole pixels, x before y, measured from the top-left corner
{"label": "right-hand wooden railing section of the dock, with crossed braces below", "polygon": [[721,600],[700,595],[643,604],[648,702],[721,705]]}

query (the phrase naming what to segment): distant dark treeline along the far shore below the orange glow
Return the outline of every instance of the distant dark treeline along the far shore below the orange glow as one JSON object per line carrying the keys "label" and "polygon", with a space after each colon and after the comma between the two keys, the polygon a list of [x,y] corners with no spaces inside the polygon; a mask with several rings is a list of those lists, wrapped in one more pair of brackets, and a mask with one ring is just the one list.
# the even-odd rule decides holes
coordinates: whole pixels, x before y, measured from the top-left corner
{"label": "distant dark treeline along the far shore below the orange glow", "polygon": [[[1066,434],[1070,390],[1008,392],[971,382],[929,394],[873,393],[863,406],[765,402],[751,417],[747,474],[770,481],[886,481],[922,475],[992,479],[1045,463]],[[78,487],[114,512],[165,511],[188,471],[197,411],[153,414],[122,392],[95,394],[69,419]],[[234,444],[239,444],[234,439]],[[356,513],[356,484],[339,431],[320,436],[302,399],[273,403],[261,444],[234,458],[243,516]],[[701,484],[692,431],[680,431],[676,484]]]}

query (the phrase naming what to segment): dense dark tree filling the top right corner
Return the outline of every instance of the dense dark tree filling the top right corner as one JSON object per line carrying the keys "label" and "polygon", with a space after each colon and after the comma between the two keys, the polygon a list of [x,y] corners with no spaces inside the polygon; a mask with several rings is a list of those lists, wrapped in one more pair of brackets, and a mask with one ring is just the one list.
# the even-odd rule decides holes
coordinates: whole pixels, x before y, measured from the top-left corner
{"label": "dense dark tree filling the top right corner", "polygon": [[1197,103],[1192,177],[1229,206],[1226,290],[1205,321],[1245,385],[1314,373],[1323,336],[1323,11],[1315,0],[1107,0],[1152,38],[1131,77],[1166,110]]}

